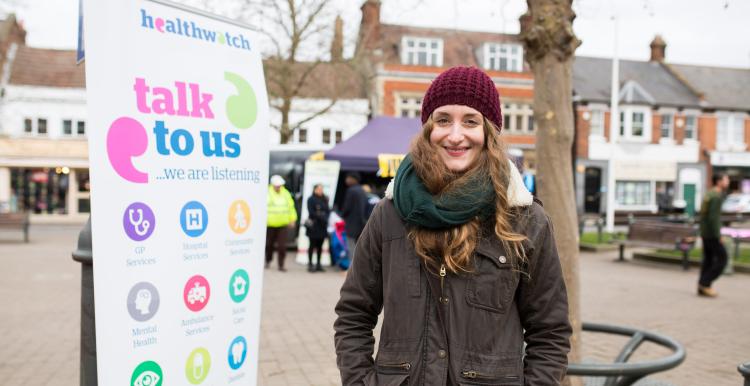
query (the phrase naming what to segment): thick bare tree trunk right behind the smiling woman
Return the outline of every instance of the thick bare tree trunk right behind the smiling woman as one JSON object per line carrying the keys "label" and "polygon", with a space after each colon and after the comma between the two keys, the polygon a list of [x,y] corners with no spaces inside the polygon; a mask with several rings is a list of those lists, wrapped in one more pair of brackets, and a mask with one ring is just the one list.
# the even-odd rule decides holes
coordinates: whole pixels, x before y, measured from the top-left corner
{"label": "thick bare tree trunk right behind the smiling woman", "polygon": [[[572,67],[580,41],[573,33],[572,0],[527,0],[521,16],[526,61],[534,73],[534,122],[539,198],[555,227],[555,238],[568,289],[572,349],[568,359],[580,363],[581,314],[578,279],[578,214],[575,205]],[[567,384],[581,384],[567,378]]]}

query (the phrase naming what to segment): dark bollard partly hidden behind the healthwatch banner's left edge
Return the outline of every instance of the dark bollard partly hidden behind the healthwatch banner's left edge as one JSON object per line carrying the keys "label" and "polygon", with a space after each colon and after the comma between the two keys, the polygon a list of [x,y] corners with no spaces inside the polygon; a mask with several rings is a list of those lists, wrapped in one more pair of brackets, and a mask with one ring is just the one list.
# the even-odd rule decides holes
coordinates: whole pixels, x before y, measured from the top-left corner
{"label": "dark bollard partly hidden behind the healthwatch banner's left edge", "polygon": [[78,234],[73,260],[81,263],[81,386],[96,386],[96,328],[94,324],[94,271],[91,252],[91,216]]}

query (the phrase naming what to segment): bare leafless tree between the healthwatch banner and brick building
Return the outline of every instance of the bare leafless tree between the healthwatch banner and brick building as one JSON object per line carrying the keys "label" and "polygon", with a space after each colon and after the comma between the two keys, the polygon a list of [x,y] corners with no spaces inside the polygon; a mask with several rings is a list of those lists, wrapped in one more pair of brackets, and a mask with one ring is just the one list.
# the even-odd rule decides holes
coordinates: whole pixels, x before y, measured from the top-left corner
{"label": "bare leafless tree between the healthwatch banner and brick building", "polygon": [[[341,41],[329,50],[331,37],[341,40],[341,21],[330,12],[333,0],[202,0],[203,8],[240,18],[264,38],[263,67],[271,108],[281,115],[271,122],[279,131],[281,143],[288,143],[294,130],[330,111],[346,94],[349,63],[340,53]],[[231,5],[227,5],[231,4]],[[334,29],[336,30],[334,32]],[[334,52],[333,55],[330,55]],[[339,92],[341,91],[341,92]],[[325,95],[325,98],[315,98]],[[299,98],[314,98],[307,103],[301,118],[292,120]],[[299,111],[300,109],[296,109]]]}

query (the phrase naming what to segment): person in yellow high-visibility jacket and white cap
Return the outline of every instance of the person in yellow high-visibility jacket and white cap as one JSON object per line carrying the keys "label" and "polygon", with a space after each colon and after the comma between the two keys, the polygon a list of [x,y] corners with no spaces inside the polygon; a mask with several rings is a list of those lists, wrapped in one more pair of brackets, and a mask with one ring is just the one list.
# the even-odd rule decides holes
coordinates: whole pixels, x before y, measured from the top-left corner
{"label": "person in yellow high-visibility jacket and white cap", "polygon": [[297,210],[294,199],[284,187],[284,178],[280,175],[271,176],[271,186],[268,187],[268,219],[266,220],[266,268],[273,260],[273,250],[279,259],[279,271],[286,272],[284,258],[286,257],[286,239],[290,229],[294,229],[297,221]]}

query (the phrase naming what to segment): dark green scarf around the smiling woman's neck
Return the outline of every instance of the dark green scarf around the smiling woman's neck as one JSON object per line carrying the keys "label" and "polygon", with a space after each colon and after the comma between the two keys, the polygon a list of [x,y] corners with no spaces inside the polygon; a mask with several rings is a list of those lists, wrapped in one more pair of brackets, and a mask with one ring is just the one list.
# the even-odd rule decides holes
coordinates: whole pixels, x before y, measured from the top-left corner
{"label": "dark green scarf around the smiling woman's neck", "polygon": [[429,229],[452,228],[495,213],[495,191],[489,175],[475,174],[457,191],[433,196],[414,170],[411,155],[401,162],[393,189],[393,204],[404,221]]}

